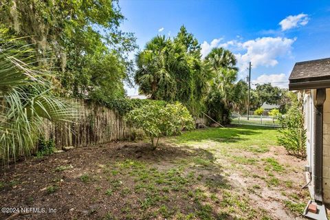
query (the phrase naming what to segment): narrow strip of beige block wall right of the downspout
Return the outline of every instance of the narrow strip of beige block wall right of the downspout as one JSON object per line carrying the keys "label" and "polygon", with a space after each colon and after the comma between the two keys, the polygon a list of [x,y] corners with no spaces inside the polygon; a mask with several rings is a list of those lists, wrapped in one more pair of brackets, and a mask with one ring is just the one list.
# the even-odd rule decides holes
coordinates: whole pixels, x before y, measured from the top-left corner
{"label": "narrow strip of beige block wall right of the downspout", "polygon": [[323,107],[323,199],[330,204],[330,89]]}

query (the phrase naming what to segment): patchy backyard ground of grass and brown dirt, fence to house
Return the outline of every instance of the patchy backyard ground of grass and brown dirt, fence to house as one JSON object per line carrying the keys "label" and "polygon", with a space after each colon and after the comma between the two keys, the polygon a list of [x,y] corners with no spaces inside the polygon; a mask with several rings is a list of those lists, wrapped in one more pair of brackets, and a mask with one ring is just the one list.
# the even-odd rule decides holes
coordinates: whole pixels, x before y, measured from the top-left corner
{"label": "patchy backyard ground of grass and brown dirt, fence to house", "polygon": [[[1,170],[1,207],[52,208],[17,219],[302,219],[303,166],[275,129],[233,126],[30,158]],[[1,213],[0,219],[10,214]]]}

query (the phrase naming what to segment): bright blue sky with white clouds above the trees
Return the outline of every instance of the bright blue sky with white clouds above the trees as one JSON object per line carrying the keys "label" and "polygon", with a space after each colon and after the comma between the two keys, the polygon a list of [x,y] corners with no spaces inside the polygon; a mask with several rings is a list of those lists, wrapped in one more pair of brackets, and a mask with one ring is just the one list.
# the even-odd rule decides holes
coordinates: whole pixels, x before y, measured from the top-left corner
{"label": "bright blue sky with white clouds above the trees", "polygon": [[[294,63],[330,57],[330,1],[153,1],[119,2],[140,49],[157,34],[173,37],[185,25],[202,53],[225,47],[238,59],[239,78],[287,87]],[[136,52],[135,52],[136,53]],[[129,95],[137,89],[126,88]]]}

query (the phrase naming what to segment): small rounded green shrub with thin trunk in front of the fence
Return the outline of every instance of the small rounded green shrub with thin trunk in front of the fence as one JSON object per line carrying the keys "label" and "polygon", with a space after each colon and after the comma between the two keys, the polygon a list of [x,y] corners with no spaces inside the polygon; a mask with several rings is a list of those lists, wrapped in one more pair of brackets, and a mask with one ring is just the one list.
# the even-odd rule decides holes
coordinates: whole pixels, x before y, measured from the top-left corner
{"label": "small rounded green shrub with thin trunk in front of the fence", "polygon": [[[194,127],[192,116],[181,103],[148,104],[126,114],[125,120],[140,128],[150,138],[153,148],[157,147],[162,135],[178,135],[182,129]],[[155,140],[157,138],[157,140]]]}

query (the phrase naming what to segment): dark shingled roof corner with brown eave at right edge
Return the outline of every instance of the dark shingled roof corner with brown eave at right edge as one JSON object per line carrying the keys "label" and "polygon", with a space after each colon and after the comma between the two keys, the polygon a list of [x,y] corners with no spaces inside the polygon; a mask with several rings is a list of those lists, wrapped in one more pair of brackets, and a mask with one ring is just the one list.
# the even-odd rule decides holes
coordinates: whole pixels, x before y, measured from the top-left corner
{"label": "dark shingled roof corner with brown eave at right edge", "polygon": [[289,77],[289,89],[318,89],[330,87],[330,58],[299,62]]}

